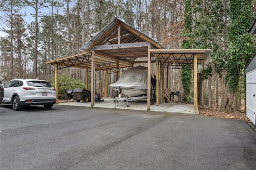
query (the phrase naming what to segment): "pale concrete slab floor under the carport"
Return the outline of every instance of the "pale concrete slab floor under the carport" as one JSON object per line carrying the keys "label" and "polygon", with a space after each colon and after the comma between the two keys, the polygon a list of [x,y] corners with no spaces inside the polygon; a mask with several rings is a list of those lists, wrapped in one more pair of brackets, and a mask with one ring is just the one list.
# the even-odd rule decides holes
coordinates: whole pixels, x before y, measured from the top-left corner
{"label": "pale concrete slab floor under the carport", "polygon": [[[102,98],[104,102],[95,102],[94,107],[97,108],[109,108],[109,109],[126,109],[126,110],[147,110],[147,101],[130,101],[130,107],[126,107],[125,101],[119,101],[116,105],[112,98]],[[80,106],[80,107],[91,107],[90,102],[68,102],[68,103],[59,103],[58,105],[69,105],[69,106]],[[194,113],[194,105],[185,104],[185,103],[161,103],[159,105],[151,105],[150,111],[155,112],[168,112],[168,113],[184,113],[184,114],[198,114]]]}

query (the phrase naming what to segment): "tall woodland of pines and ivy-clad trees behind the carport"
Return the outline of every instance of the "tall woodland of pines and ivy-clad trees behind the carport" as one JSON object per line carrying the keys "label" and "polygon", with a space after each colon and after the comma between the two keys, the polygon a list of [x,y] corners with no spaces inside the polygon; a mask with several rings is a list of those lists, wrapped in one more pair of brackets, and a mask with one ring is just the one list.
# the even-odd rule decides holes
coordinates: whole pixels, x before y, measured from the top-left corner
{"label": "tall woodland of pines and ivy-clad trees behind the carport", "polygon": [[[166,49],[212,49],[198,69],[198,105],[244,112],[244,69],[256,51],[256,38],[248,34],[255,4],[255,0],[4,0],[0,79],[52,82],[54,67],[45,62],[80,53],[90,34],[117,17]],[[28,18],[33,20],[27,22]],[[69,67],[59,74],[85,84],[85,69]],[[169,69],[166,75],[170,82],[165,79],[164,88],[180,91],[184,102],[193,102],[192,70]],[[111,74],[108,84],[115,82],[115,76]],[[112,91],[104,89],[104,77],[104,71],[96,71],[97,93],[111,96]]]}

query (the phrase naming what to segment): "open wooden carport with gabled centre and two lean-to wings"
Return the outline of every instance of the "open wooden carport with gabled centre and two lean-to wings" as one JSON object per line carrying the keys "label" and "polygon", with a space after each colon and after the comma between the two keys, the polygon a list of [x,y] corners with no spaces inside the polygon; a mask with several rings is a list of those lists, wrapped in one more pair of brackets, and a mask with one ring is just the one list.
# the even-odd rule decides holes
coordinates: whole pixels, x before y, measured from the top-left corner
{"label": "open wooden carport with gabled centre and two lean-to wings", "polygon": [[[84,52],[46,62],[47,64],[55,65],[55,87],[57,98],[58,69],[66,67],[86,69],[86,87],[88,87],[88,70],[90,69],[91,107],[93,107],[95,71],[106,71],[106,79],[108,72],[116,73],[118,79],[118,73],[121,70],[133,67],[134,64],[148,63],[147,111],[150,111],[151,63],[156,63],[156,105],[159,104],[159,94],[162,94],[160,96],[163,99],[164,93],[163,83],[161,83],[162,88],[159,93],[159,75],[161,74],[161,82],[163,82],[164,69],[181,68],[182,65],[188,65],[190,69],[194,69],[194,111],[195,113],[198,113],[197,65],[204,63],[210,52],[209,49],[164,49],[159,42],[118,18],[112,20],[112,22],[100,32],[90,36],[92,37],[91,40],[80,48],[80,50]],[[107,83],[105,84],[105,88],[107,91]]]}

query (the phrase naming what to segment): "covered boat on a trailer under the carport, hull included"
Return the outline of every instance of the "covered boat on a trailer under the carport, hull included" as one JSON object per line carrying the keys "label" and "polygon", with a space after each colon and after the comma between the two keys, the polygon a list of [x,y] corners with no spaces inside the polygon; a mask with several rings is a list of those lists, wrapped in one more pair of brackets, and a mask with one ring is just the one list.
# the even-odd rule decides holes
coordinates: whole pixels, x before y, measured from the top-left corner
{"label": "covered boat on a trailer under the carport, hull included", "polygon": [[141,65],[125,70],[118,81],[110,85],[115,91],[122,92],[124,96],[146,98],[148,87],[148,67]]}

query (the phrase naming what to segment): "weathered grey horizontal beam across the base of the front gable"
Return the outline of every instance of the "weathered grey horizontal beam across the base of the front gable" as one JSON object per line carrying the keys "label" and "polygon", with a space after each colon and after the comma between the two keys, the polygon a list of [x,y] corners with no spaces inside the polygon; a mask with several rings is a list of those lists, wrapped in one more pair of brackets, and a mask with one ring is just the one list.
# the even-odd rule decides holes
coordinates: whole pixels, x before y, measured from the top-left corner
{"label": "weathered grey horizontal beam across the base of the front gable", "polygon": [[145,46],[150,46],[150,42],[136,42],[136,43],[122,43],[122,44],[102,45],[102,46],[95,46],[92,49],[97,51],[97,50],[106,50],[106,49],[134,48],[134,47],[145,47]]}

